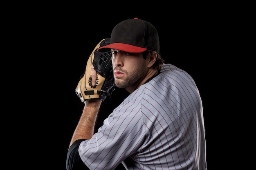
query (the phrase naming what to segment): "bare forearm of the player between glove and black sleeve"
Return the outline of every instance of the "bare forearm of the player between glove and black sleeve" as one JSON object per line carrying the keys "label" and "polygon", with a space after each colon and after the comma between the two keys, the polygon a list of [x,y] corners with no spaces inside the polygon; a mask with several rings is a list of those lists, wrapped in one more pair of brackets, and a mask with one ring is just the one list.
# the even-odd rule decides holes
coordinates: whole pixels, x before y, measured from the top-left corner
{"label": "bare forearm of the player between glove and black sleeve", "polygon": [[85,106],[83,108],[83,113],[70,141],[70,146],[77,139],[91,139],[92,135],[94,134],[94,128],[101,102],[102,101],[98,99],[86,100],[84,102]]}

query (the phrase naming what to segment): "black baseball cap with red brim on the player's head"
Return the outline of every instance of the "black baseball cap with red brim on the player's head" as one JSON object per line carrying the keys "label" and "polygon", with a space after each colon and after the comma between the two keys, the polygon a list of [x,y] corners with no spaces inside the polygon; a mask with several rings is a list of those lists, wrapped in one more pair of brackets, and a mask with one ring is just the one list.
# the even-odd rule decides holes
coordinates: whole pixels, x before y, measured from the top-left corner
{"label": "black baseball cap with red brim on the player's head", "polygon": [[128,53],[152,50],[159,53],[159,38],[155,26],[139,18],[119,22],[111,33],[110,44],[97,49],[99,52],[117,49]]}

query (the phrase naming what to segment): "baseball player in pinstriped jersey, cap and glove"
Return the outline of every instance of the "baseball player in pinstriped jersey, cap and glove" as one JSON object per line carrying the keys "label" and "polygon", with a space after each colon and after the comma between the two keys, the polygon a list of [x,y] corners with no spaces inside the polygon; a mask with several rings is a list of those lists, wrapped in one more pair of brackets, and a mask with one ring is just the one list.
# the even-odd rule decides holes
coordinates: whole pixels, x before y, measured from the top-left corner
{"label": "baseball player in pinstriped jersey, cap and glove", "polygon": [[[130,95],[94,133],[101,103],[115,87]],[[159,54],[155,27],[117,24],[90,55],[76,87],[84,103],[67,170],[207,170],[204,117],[193,78]]]}

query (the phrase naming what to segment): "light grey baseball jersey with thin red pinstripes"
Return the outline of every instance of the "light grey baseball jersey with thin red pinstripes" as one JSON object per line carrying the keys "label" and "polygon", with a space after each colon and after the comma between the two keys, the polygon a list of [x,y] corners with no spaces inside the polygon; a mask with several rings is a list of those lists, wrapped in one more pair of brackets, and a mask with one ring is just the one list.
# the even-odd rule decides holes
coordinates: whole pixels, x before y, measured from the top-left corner
{"label": "light grey baseball jersey with thin red pinstripes", "polygon": [[171,64],[104,120],[79,155],[92,170],[206,170],[202,101],[192,77]]}

